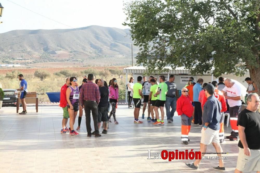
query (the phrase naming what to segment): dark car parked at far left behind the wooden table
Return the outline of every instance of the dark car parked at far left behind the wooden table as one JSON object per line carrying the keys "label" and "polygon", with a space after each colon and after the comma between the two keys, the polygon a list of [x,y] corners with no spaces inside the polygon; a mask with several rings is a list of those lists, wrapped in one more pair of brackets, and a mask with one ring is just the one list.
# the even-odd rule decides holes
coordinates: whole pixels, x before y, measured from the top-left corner
{"label": "dark car parked at far left behind the wooden table", "polygon": [[4,91],[3,107],[4,106],[16,107],[18,91],[16,89],[3,89],[3,91]]}

